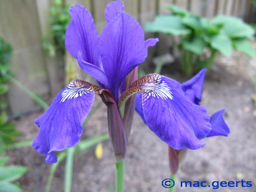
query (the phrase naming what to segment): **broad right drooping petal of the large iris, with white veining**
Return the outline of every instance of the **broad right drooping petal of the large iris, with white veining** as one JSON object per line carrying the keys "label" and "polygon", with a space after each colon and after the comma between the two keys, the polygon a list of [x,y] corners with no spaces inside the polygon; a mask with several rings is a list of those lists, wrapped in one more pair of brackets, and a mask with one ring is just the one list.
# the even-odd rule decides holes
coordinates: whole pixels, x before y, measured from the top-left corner
{"label": "broad right drooping petal of the large iris, with white veining", "polygon": [[158,74],[144,77],[142,106],[148,127],[175,150],[203,147],[200,139],[211,130],[206,109],[190,102],[179,82]]}

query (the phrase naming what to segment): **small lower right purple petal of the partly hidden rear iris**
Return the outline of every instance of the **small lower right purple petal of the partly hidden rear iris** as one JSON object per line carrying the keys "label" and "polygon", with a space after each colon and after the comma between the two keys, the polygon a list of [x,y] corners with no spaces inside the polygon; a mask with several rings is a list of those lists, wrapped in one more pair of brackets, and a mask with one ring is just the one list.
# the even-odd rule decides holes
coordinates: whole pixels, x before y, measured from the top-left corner
{"label": "small lower right purple petal of the partly hidden rear iris", "polygon": [[229,127],[223,118],[224,111],[225,110],[220,110],[210,117],[211,131],[207,137],[221,135],[227,137],[230,133]]}

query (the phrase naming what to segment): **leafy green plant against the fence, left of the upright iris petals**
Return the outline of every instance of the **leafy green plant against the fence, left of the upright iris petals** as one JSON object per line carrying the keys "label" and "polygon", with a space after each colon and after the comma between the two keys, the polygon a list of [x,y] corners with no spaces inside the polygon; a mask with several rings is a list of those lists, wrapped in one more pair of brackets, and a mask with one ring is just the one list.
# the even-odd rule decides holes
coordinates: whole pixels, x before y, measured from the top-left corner
{"label": "leafy green plant against the fence, left of the upright iris petals", "polygon": [[56,50],[65,51],[65,33],[70,22],[69,6],[63,0],[55,0],[50,10],[50,32],[42,39],[42,46],[50,56]]}

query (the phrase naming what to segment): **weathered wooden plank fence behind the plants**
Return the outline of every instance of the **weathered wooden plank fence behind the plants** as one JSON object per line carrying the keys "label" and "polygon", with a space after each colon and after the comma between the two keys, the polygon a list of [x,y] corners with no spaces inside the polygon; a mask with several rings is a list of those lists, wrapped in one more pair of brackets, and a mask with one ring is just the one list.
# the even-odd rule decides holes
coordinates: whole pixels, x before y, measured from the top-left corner
{"label": "weathered wooden plank fence behind the plants", "polygon": [[[13,46],[11,69],[15,78],[34,93],[47,99],[64,86],[63,58],[49,57],[41,46],[42,36],[49,31],[49,10],[53,0],[0,0],[0,36]],[[109,0],[66,0],[67,4],[86,6],[94,16],[99,33],[102,31],[104,8]],[[156,14],[168,13],[164,4],[177,4],[194,14],[212,18],[217,14],[248,17],[250,0],[123,0],[125,11],[145,22]],[[166,50],[166,42],[159,49]],[[161,50],[160,50],[161,53]],[[10,84],[8,93],[12,114],[39,108],[22,90]]]}

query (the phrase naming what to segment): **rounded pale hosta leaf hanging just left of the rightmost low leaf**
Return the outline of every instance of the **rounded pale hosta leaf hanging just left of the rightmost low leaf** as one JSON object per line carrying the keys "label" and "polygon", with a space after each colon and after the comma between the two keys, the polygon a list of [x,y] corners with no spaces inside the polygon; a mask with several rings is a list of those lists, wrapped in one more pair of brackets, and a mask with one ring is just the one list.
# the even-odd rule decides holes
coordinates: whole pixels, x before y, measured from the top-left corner
{"label": "rounded pale hosta leaf hanging just left of the rightmost low leaf", "polygon": [[211,36],[210,45],[212,48],[217,49],[221,54],[230,57],[232,53],[232,42],[224,34]]}

